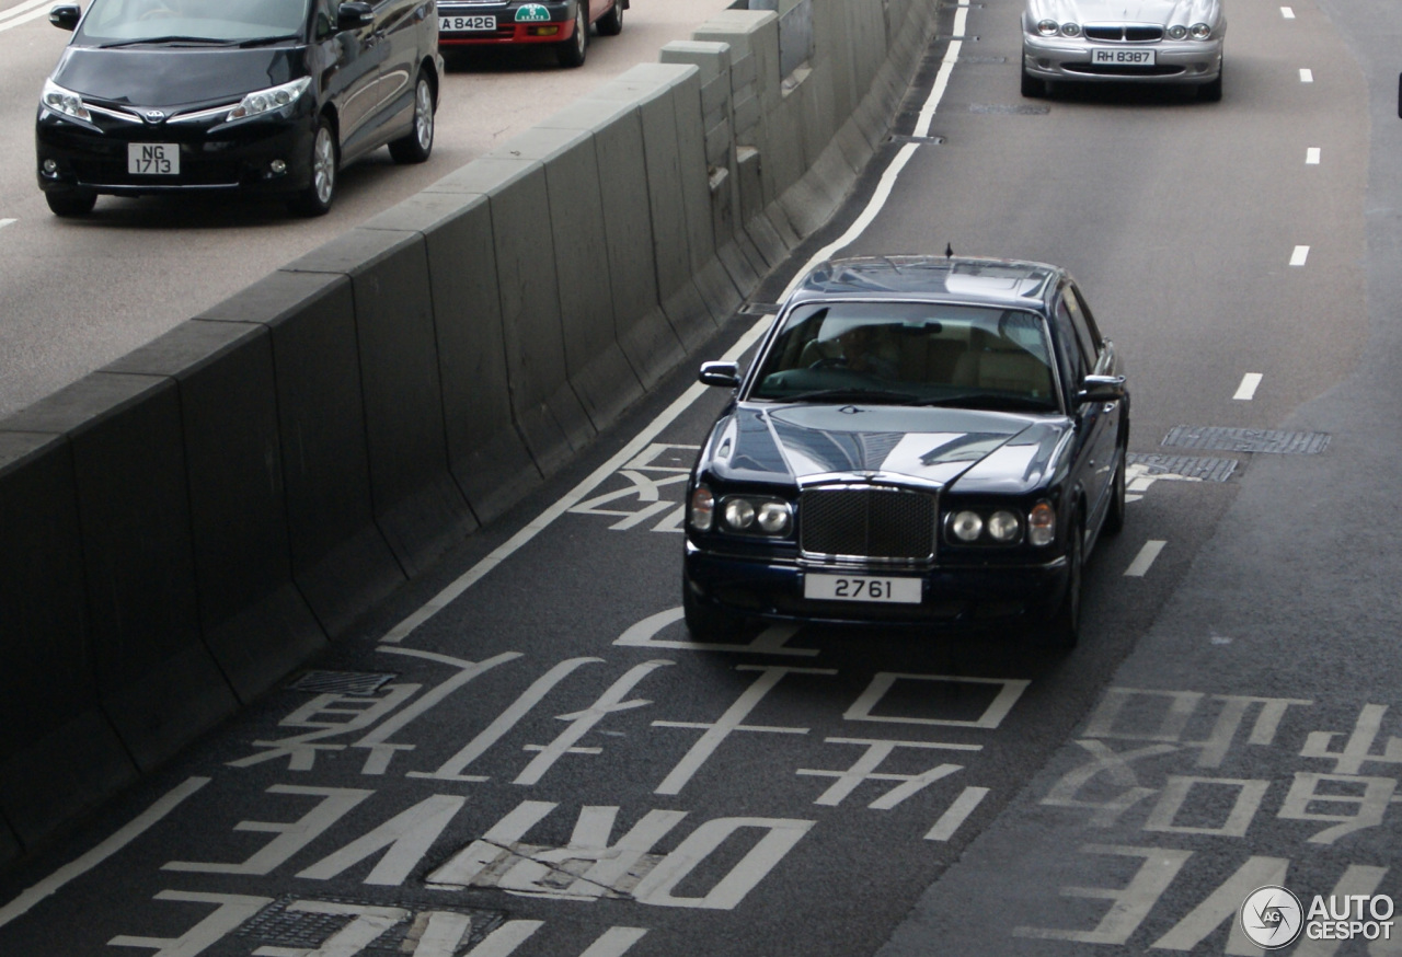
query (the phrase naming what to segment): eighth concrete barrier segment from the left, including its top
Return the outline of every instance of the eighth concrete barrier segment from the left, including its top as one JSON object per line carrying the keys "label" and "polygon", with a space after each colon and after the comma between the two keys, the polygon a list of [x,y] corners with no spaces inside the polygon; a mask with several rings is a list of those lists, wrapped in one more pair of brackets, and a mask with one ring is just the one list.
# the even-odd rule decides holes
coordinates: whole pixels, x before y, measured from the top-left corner
{"label": "eighth concrete barrier segment from the left, including its top", "polygon": [[642,398],[644,388],[618,346],[593,132],[533,128],[488,156],[545,167],[565,369],[590,423],[601,430]]}

